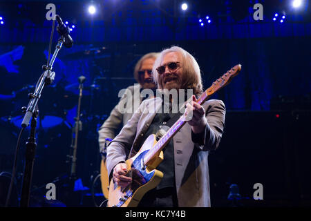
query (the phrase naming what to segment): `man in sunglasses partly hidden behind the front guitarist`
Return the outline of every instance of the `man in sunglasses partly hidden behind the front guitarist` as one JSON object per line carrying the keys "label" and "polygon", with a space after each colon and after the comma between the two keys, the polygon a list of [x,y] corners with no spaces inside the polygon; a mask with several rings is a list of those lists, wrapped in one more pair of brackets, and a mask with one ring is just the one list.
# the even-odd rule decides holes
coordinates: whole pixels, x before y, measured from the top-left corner
{"label": "man in sunglasses partly hidden behind the front guitarist", "polygon": [[[156,84],[153,82],[153,78],[151,75],[152,68],[154,61],[158,57],[159,53],[150,52],[143,57],[136,63],[134,68],[134,78],[138,81],[139,84],[135,84],[134,86],[129,86],[126,88],[126,93],[131,93],[131,101],[130,102],[142,102],[142,97],[135,97],[134,91],[135,90],[142,90],[142,89],[156,89]],[[106,139],[112,140],[115,137],[115,133],[120,126],[124,126],[131,116],[133,115],[134,111],[121,111],[120,106],[124,103],[126,99],[126,93],[121,97],[120,102],[113,108],[111,114],[106,119],[104,124],[100,127],[98,131],[99,134],[99,143],[100,143],[100,153],[104,153],[104,148],[106,144]],[[136,100],[134,101],[134,99]],[[132,107],[132,106],[131,106]]]}

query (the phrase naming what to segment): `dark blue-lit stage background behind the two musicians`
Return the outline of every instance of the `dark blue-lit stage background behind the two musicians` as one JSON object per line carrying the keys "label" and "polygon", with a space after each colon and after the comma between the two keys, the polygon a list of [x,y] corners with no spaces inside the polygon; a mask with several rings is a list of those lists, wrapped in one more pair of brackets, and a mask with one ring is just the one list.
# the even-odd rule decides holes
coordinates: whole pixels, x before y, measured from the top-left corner
{"label": "dark blue-lit stage background behind the two musicians", "polygon": [[[50,206],[43,197],[46,184],[59,179],[55,183],[64,186],[62,177],[69,173],[77,77],[84,75],[86,81],[77,149],[81,183],[74,200],[95,206],[93,201],[103,200],[95,179],[100,171],[97,130],[117,104],[119,90],[135,83],[138,59],[173,45],[197,59],[205,89],[242,64],[241,73],[213,97],[225,102],[227,115],[220,146],[209,155],[212,206],[311,205],[308,1],[299,11],[290,8],[290,1],[189,1],[185,12],[181,1],[94,2],[98,12],[90,17],[88,1],[0,1],[0,172],[12,170],[21,106],[27,106],[48,57],[52,21],[45,18],[46,4],[55,3],[57,14],[75,25],[74,45],[59,52],[55,82],[44,88],[39,102],[32,206]],[[253,19],[255,3],[263,4],[263,21]],[[283,23],[272,20],[276,12],[286,12]],[[204,20],[200,26],[198,19],[207,15],[211,23]],[[55,31],[53,51],[56,42]],[[21,140],[17,193],[28,133]],[[256,183],[263,184],[263,200],[253,198]],[[227,199],[232,184],[241,194],[237,202]],[[64,192],[57,192],[57,199],[67,204]]]}

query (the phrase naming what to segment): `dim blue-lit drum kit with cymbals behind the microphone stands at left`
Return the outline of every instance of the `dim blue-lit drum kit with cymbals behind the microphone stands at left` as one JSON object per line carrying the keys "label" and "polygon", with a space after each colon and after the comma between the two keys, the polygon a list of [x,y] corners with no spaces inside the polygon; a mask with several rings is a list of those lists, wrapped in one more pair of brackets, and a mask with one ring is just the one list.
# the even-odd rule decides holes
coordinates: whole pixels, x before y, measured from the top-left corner
{"label": "dim blue-lit drum kit with cymbals behind the microphone stands at left", "polygon": [[[100,179],[98,177],[102,160],[99,153],[97,131],[117,104],[117,89],[124,88],[124,84],[118,88],[115,86],[115,82],[125,81],[126,85],[135,82],[133,77],[105,77],[106,74],[104,73],[109,70],[103,70],[97,61],[104,59],[106,64],[107,59],[112,59],[111,57],[115,56],[106,49],[104,47],[91,48],[63,57],[68,61],[89,58],[93,62],[92,67],[95,68],[91,70],[91,73],[97,73],[89,76],[91,81],[88,82],[92,82],[90,85],[83,86],[81,111],[79,112],[79,124],[82,124],[82,127],[79,129],[77,141],[77,177],[81,177],[83,184],[90,187],[95,206],[104,200],[104,195],[100,193],[100,198],[97,198],[97,202],[95,202],[95,195],[99,194],[96,192],[100,191]],[[7,106],[10,106],[10,112],[3,113],[2,111],[2,117],[0,117],[0,133],[5,137],[5,139],[0,139],[0,172],[12,170],[15,146],[23,120],[21,107],[27,106],[28,95],[34,90],[34,85],[24,86],[13,91],[10,99],[6,98],[6,101],[3,101],[8,104]],[[61,182],[62,177],[70,174],[78,100],[78,81],[67,85],[52,84],[44,88],[38,104],[37,149],[32,176],[33,193],[36,192],[36,189],[44,192],[46,184],[55,182],[55,180]],[[25,152],[23,146],[29,131],[30,128],[28,127],[23,133],[19,159],[23,159]],[[18,162],[17,183],[19,184],[21,184],[19,179],[22,177],[23,163],[22,160]]]}

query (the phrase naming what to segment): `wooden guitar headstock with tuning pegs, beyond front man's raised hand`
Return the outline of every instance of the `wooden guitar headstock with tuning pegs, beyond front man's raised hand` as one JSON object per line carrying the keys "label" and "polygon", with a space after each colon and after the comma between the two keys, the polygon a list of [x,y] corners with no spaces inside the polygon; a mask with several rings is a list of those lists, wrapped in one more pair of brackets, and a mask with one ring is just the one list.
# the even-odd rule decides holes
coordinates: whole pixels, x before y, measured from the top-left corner
{"label": "wooden guitar headstock with tuning pegs, beyond front man's raised hand", "polygon": [[229,84],[230,81],[232,81],[232,79],[236,77],[238,73],[240,73],[241,69],[241,64],[237,64],[236,66],[228,70],[227,73],[225,73],[223,76],[216,79],[216,81],[214,81],[213,84],[206,90],[207,95],[212,95],[220,88],[223,88],[224,86]]}

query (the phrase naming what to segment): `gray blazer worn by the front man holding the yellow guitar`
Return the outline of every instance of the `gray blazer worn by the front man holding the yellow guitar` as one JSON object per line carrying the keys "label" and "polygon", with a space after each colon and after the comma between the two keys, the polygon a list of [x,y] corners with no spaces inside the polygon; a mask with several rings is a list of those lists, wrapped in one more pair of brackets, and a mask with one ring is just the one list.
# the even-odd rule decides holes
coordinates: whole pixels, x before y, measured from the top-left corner
{"label": "gray blazer worn by the front man holding the yellow guitar", "polygon": [[[133,114],[122,131],[107,148],[106,165],[111,175],[113,167],[132,157],[139,151],[141,137],[146,133],[156,110],[161,106],[160,98],[142,102],[141,108]],[[203,104],[207,116],[204,144],[191,140],[191,126],[185,124],[173,137],[175,181],[178,206],[210,206],[208,155],[220,142],[225,127],[225,104],[211,99]],[[143,111],[140,111],[143,110]]]}

